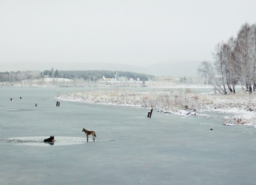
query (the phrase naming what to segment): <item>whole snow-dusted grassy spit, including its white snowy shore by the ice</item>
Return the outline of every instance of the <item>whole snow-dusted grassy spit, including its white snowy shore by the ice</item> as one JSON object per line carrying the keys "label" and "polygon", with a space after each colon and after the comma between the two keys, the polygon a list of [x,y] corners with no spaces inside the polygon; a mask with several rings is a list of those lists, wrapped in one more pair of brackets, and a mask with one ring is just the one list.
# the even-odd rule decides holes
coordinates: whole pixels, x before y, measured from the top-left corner
{"label": "whole snow-dusted grassy spit, including its white snowy shore by the ice", "polygon": [[[226,113],[223,124],[256,125],[256,96],[238,91],[236,94],[192,93],[182,91],[153,91],[137,93],[127,90],[97,90],[57,95],[61,101],[77,101],[104,105],[144,107],[163,113],[200,115],[205,112]],[[206,114],[201,114],[206,116]]]}

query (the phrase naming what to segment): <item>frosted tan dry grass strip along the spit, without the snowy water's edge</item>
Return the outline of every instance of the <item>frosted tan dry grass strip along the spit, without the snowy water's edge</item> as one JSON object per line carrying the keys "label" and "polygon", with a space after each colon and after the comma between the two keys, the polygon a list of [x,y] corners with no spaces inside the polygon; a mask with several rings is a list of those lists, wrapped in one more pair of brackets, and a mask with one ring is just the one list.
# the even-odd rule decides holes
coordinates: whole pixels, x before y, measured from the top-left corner
{"label": "frosted tan dry grass strip along the spit, without the snowy water's edge", "polygon": [[237,94],[192,93],[185,91],[152,91],[137,93],[120,89],[82,91],[68,95],[58,95],[57,98],[67,101],[86,103],[130,105],[154,108],[163,112],[214,111],[216,109],[238,108],[255,110],[255,95],[244,92]]}

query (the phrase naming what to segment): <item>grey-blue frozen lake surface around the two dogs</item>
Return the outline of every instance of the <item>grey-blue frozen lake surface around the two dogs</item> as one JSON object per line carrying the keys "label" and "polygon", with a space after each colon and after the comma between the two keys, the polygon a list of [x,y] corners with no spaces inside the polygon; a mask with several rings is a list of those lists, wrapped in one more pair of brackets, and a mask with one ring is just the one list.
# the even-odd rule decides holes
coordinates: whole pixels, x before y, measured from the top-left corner
{"label": "grey-blue frozen lake surface around the two dogs", "polygon": [[[256,184],[255,128],[147,118],[148,110],[125,106],[56,107],[54,95],[83,89],[0,87],[0,184]],[[82,128],[95,131],[95,142]],[[42,142],[50,135],[54,145]]]}

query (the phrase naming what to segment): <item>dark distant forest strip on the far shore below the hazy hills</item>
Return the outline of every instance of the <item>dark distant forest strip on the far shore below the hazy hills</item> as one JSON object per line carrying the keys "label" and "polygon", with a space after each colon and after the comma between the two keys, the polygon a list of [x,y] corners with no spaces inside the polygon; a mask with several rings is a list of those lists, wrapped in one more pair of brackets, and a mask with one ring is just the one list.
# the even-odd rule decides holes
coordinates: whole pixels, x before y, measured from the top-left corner
{"label": "dark distant forest strip on the far shore below the hazy hills", "polygon": [[135,73],[128,71],[106,71],[106,70],[87,70],[87,71],[58,71],[57,69],[40,71],[11,71],[0,72],[0,82],[19,82],[27,79],[39,79],[39,78],[67,78],[67,79],[84,79],[85,81],[97,81],[105,78],[120,78],[125,77],[128,80],[130,78],[140,81],[148,81],[155,78],[154,75],[146,75],[143,73]]}

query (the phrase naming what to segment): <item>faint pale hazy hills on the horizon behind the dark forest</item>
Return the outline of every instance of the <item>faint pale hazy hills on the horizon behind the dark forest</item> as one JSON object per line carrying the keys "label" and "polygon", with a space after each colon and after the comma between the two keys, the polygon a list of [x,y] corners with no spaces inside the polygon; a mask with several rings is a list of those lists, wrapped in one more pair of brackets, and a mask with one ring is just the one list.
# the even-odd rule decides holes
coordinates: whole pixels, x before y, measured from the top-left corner
{"label": "faint pale hazy hills on the horizon behind the dark forest", "polygon": [[200,61],[168,61],[140,67],[136,65],[114,63],[58,63],[58,62],[3,62],[0,72],[4,71],[44,71],[52,68],[58,70],[110,70],[146,73],[155,76],[197,77]]}

